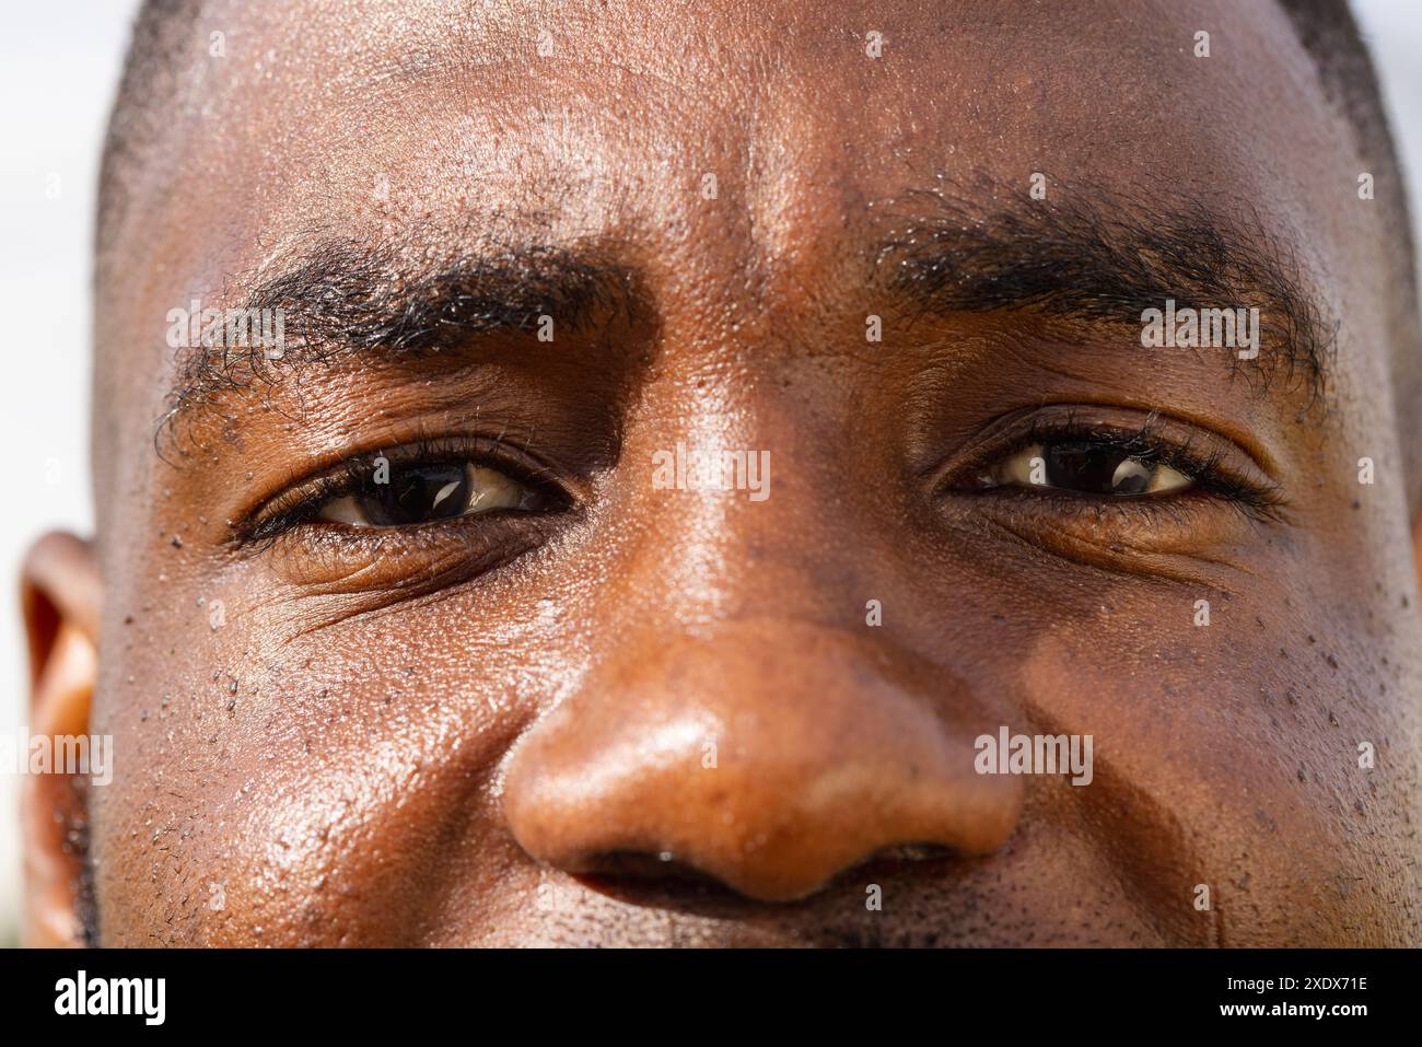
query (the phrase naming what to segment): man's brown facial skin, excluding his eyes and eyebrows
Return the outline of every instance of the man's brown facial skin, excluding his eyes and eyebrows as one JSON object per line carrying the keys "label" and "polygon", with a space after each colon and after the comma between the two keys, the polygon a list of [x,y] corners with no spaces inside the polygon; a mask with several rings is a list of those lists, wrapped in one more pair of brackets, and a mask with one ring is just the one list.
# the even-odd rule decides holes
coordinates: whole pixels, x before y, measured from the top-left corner
{"label": "man's brown facial skin, excluding his eyes and eyebrows", "polygon": [[[105,945],[1418,943],[1418,347],[1283,14],[252,7],[202,20],[228,57],[179,63],[208,75],[101,282],[97,539],[27,565],[33,723],[118,754],[87,805],[30,787],[31,942],[75,937],[82,821]],[[893,202],[946,178],[1038,206],[1034,171],[1253,211],[1342,320],[1328,413],[1143,354],[1129,316],[910,323],[866,279]],[[593,245],[640,304],[317,368],[300,401],[279,374],[155,454],[166,312],[317,228]],[[1044,404],[1214,434],[1287,519],[926,479]],[[226,521],[417,432],[522,438],[579,509],[233,548]],[[768,450],[769,498],[654,489],[678,440]],[[974,774],[1001,724],[1094,735],[1092,784]]]}

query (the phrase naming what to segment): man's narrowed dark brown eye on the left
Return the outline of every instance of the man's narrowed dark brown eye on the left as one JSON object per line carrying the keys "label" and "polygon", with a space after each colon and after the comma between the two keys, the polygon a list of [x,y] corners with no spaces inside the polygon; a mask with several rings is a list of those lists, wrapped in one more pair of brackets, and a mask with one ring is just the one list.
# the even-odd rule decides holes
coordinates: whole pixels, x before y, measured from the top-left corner
{"label": "man's narrowed dark brown eye on the left", "polygon": [[346,494],[333,494],[311,514],[316,521],[351,528],[404,528],[496,509],[538,512],[547,496],[472,461],[418,462],[375,469]]}

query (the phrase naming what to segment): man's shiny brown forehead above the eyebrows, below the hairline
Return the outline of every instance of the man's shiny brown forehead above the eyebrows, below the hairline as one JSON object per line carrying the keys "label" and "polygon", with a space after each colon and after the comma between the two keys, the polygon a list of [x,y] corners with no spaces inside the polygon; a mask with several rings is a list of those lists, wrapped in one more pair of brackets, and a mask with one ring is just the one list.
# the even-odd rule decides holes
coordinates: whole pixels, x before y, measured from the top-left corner
{"label": "man's shiny brown forehead above the eyebrows, below the hairline", "polygon": [[[1367,262],[1318,206],[1352,192],[1349,129],[1273,4],[292,1],[195,34],[124,233],[145,293],[115,306],[159,351],[166,307],[303,238],[474,215],[774,292],[884,202],[1035,172],[1249,212],[1305,276]],[[161,414],[166,383],[129,381]]]}

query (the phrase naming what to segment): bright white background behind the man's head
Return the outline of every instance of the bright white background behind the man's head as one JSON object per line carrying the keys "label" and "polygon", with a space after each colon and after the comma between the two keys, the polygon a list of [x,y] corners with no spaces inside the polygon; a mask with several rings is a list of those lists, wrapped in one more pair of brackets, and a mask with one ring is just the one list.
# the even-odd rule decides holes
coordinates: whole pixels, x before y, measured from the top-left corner
{"label": "bright white background behind the man's head", "polygon": [[[0,730],[24,723],[14,579],[48,528],[88,533],[90,242],[104,121],[134,0],[6,4],[0,24]],[[1422,1],[1355,0],[1422,211]],[[58,196],[51,198],[51,179]],[[1415,220],[1416,223],[1416,220]],[[48,482],[57,469],[57,482]],[[17,780],[0,771],[0,945],[18,906]]]}

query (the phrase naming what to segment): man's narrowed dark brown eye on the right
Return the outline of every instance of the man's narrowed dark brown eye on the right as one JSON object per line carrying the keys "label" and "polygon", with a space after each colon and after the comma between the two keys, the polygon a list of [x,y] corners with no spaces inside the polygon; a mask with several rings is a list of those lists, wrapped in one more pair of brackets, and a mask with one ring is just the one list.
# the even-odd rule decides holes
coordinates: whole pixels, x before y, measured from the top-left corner
{"label": "man's narrowed dark brown eye on the right", "polygon": [[1030,444],[988,465],[980,488],[1051,488],[1095,496],[1163,495],[1189,491],[1194,479],[1149,452],[1092,440]]}

